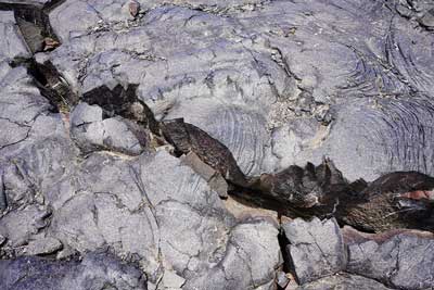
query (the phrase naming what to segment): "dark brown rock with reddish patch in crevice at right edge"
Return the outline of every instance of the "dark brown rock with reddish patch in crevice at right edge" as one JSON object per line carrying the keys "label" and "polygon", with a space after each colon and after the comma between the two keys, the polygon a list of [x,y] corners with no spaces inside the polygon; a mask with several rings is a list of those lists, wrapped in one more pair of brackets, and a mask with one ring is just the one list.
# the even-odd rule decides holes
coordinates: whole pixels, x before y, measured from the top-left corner
{"label": "dark brown rock with reddish patch in crevice at right edge", "polygon": [[339,215],[366,230],[433,228],[434,178],[414,172],[386,174],[370,184],[359,197],[344,202]]}

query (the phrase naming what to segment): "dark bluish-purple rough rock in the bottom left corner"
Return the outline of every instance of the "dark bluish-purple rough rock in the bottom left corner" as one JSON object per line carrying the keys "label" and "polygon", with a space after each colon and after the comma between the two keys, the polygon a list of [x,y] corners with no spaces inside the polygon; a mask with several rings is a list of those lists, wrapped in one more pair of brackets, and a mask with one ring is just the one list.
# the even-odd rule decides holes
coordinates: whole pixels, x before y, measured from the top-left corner
{"label": "dark bluish-purple rough rock in the bottom left corner", "polygon": [[20,257],[0,261],[3,289],[148,289],[137,267],[106,253],[89,253],[82,261]]}

